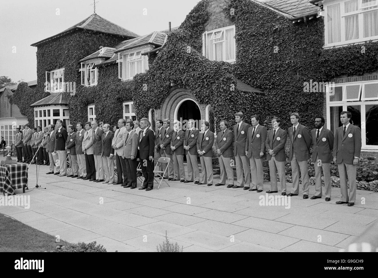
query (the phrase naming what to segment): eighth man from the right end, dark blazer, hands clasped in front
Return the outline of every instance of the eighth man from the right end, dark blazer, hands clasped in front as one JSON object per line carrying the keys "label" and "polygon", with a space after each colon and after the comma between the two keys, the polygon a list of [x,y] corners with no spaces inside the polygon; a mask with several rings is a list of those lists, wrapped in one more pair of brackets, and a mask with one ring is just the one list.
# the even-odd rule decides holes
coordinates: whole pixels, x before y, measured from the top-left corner
{"label": "eighth man from the right end, dark blazer, hands clasped in front", "polygon": [[212,146],[214,144],[214,133],[209,130],[210,124],[208,121],[202,123],[202,131],[198,135],[197,152],[201,160],[201,184],[212,186],[213,183],[213,170],[212,170]]}

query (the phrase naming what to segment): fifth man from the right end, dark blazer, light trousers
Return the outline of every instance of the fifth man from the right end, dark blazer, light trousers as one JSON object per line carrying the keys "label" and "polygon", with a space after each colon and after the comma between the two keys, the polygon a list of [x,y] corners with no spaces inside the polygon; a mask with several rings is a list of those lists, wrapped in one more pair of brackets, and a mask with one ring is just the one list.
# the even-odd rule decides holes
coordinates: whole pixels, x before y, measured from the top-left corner
{"label": "fifth man from the right end, dark blazer, light trousers", "polygon": [[[251,165],[251,191],[257,190],[257,193],[262,192],[263,189],[264,170],[262,162],[266,157],[265,141],[268,134],[265,126],[261,126],[259,121],[259,115],[251,117],[252,126],[248,129],[245,144],[245,155],[249,158],[249,165]],[[249,189],[249,186],[244,187],[244,190],[247,189]]]}

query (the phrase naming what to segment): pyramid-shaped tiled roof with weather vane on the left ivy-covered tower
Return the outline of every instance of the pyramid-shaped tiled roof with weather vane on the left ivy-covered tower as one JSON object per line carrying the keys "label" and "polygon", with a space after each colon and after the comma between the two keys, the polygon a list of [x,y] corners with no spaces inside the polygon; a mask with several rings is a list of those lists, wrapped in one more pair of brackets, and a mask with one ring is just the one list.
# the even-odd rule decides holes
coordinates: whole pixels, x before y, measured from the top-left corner
{"label": "pyramid-shaped tiled roof with weather vane on the left ivy-covered tower", "polygon": [[130,38],[135,38],[139,36],[138,34],[130,30],[127,30],[113,22],[110,22],[107,19],[104,19],[98,14],[92,14],[91,16],[71,26],[70,28],[64,30],[63,32],[60,32],[59,34],[56,34],[55,36],[51,36],[46,39],[40,40],[39,42],[33,43],[31,46],[38,46],[42,43],[47,42],[48,40],[55,39],[56,37],[62,36],[76,29],[91,30],[91,31],[105,33],[105,34],[113,34],[116,36],[130,37]]}

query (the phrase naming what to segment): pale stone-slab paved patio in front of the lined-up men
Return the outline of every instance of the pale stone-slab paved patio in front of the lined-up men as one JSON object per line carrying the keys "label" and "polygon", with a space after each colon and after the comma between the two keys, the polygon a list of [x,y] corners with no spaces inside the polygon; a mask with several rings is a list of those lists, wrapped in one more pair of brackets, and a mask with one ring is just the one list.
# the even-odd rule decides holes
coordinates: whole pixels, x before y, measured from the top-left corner
{"label": "pale stone-slab paved patio in front of the lined-up men", "polygon": [[[262,193],[180,182],[146,192],[47,171],[40,166],[38,182],[47,189],[25,193],[29,209],[5,206],[0,213],[68,242],[97,241],[108,252],[156,252],[166,230],[184,252],[338,252],[378,218],[378,193],[372,191],[357,190],[354,207],[336,205],[340,189],[332,188],[331,202],[300,194],[285,208],[259,204],[268,183]],[[29,187],[35,181],[31,166]]]}

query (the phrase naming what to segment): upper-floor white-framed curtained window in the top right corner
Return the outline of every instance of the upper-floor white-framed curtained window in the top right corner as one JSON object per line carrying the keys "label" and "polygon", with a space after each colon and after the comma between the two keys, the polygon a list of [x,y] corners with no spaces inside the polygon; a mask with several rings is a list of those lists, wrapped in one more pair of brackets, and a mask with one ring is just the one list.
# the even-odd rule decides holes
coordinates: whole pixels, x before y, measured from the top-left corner
{"label": "upper-floor white-framed curtained window in the top right corner", "polygon": [[378,1],[343,0],[324,4],[325,47],[378,39]]}

